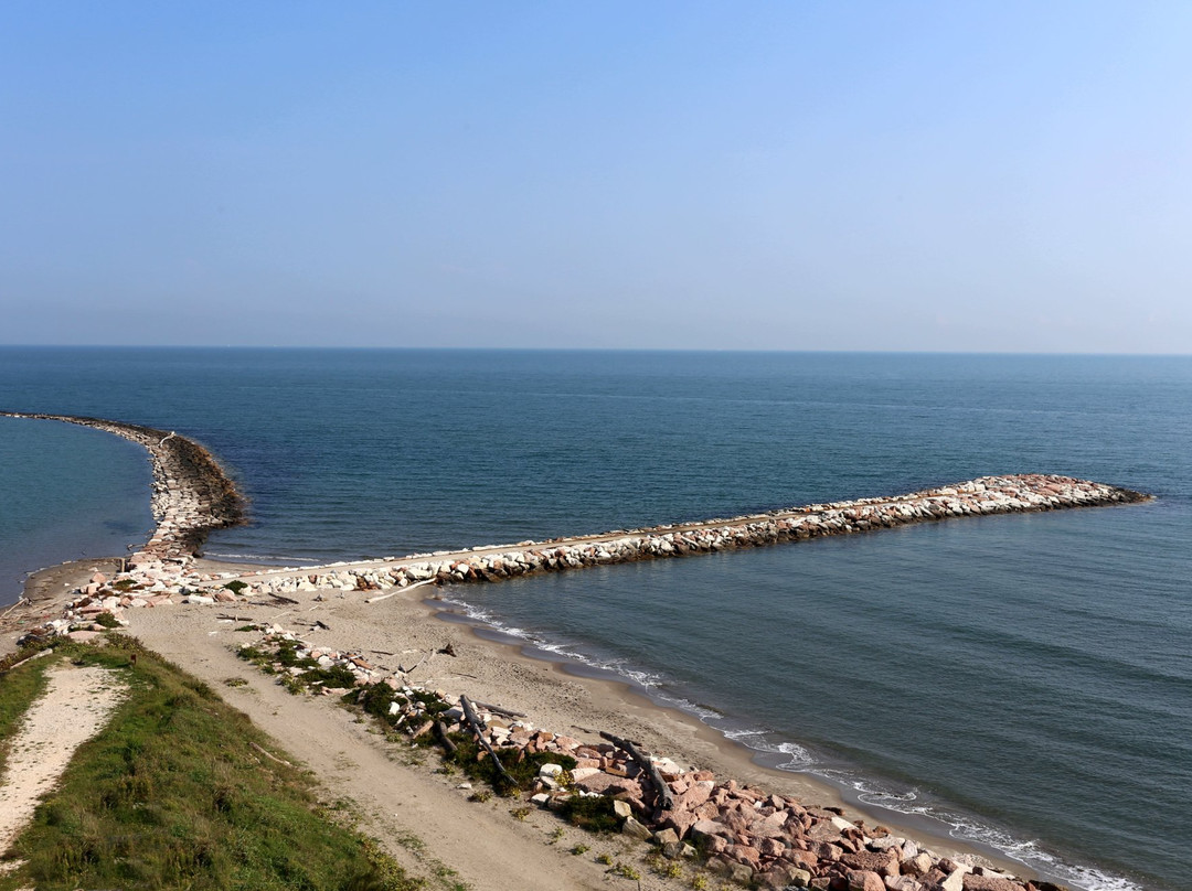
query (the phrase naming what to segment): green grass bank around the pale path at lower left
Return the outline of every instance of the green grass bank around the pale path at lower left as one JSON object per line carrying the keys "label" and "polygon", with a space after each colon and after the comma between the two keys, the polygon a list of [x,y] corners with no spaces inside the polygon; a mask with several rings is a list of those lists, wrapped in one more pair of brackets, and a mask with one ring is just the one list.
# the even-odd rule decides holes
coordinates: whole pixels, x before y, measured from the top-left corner
{"label": "green grass bank around the pale path at lower left", "polygon": [[63,658],[112,669],[130,694],[38,806],[13,845],[25,862],[0,877],[0,891],[422,886],[374,842],[337,824],[317,804],[309,774],[255,750],[250,743],[273,747],[244,715],[131,638],[64,644],[11,672],[0,722],[19,717],[44,669]]}

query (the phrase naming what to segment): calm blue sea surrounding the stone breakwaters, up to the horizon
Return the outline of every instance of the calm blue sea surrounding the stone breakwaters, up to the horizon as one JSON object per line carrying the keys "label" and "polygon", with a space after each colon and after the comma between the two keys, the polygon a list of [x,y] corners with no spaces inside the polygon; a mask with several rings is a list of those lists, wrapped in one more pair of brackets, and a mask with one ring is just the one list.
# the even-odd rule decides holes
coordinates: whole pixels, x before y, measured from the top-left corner
{"label": "calm blue sea surrounding the stone breakwaters, up to the horizon", "polygon": [[[1187,887],[1192,360],[0,349],[0,407],[210,447],[254,524],[212,556],[385,556],[989,473],[1144,490],[451,592],[870,804],[1074,887]],[[0,593],[149,525],[136,449],[0,419]]]}

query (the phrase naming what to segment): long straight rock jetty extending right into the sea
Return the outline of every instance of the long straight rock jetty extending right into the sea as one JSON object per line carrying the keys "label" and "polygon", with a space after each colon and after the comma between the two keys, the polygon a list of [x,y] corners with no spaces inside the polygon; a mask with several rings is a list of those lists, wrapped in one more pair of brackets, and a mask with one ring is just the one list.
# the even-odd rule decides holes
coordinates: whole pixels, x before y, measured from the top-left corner
{"label": "long straight rock jetty extending right into the sea", "polygon": [[265,572],[260,580],[248,575],[243,578],[257,594],[325,588],[375,591],[430,580],[446,584],[501,581],[538,572],[735,550],[951,517],[1128,504],[1147,498],[1130,490],[1070,476],[982,476],[907,496],[813,504],[731,519],[544,542],[527,541],[515,546],[483,546],[471,552],[441,552],[375,561],[368,567],[329,565],[304,571]]}

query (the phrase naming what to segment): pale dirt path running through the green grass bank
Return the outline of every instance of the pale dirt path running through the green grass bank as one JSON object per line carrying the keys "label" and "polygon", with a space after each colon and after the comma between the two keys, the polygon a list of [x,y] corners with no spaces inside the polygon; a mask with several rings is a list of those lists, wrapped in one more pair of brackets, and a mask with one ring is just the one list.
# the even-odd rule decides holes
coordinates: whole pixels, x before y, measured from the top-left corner
{"label": "pale dirt path running through the green grass bank", "polygon": [[128,692],[106,668],[64,663],[51,668],[48,678],[45,694],[30,706],[12,739],[0,783],[0,850],[8,848],[75,749],[103,729]]}

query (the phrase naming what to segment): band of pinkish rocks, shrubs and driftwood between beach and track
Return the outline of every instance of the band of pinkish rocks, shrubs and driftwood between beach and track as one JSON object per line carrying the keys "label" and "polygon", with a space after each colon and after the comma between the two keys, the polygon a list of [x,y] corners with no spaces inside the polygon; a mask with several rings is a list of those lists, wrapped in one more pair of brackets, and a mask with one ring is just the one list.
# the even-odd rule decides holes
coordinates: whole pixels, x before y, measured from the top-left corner
{"label": "band of pinkish rocks, shrubs and driftwood between beach and track", "polygon": [[[410,684],[404,669],[383,668],[359,652],[310,643],[280,625],[259,629],[261,637],[246,648],[247,658],[278,674],[283,684],[317,675],[305,686],[292,687],[296,692],[352,693],[349,700],[356,704],[379,700],[384,708],[372,714],[411,739],[429,739],[436,723],[443,736],[471,733],[458,693]],[[532,803],[565,810],[576,798],[608,799],[623,835],[652,845],[663,856],[702,859],[713,873],[744,885],[825,891],[1057,891],[1050,883],[1025,881],[939,856],[883,827],[849,821],[838,808],[807,806],[763,789],[718,780],[710,771],[684,767],[670,758],[645,755],[634,743],[609,741],[616,737],[584,741],[536,728],[519,712],[499,706],[473,706],[484,742],[503,764],[538,756]],[[658,783],[665,785],[664,793]]]}

